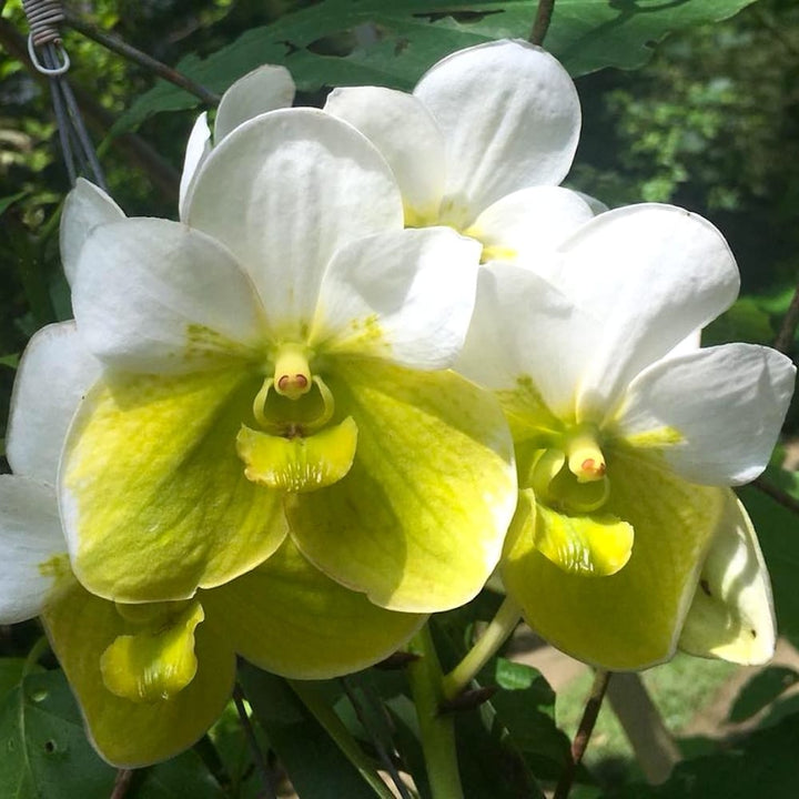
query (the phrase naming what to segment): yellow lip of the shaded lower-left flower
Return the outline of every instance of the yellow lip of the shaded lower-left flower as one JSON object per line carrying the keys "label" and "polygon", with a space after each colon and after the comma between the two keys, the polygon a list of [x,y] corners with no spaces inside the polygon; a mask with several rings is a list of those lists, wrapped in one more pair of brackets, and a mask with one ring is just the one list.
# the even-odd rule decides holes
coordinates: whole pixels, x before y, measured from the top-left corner
{"label": "yellow lip of the shaded lower-left flower", "polygon": [[194,630],[205,618],[202,605],[189,599],[115,607],[129,629],[100,658],[105,687],[135,702],[161,701],[182,691],[196,674]]}

